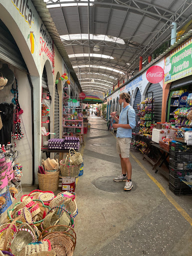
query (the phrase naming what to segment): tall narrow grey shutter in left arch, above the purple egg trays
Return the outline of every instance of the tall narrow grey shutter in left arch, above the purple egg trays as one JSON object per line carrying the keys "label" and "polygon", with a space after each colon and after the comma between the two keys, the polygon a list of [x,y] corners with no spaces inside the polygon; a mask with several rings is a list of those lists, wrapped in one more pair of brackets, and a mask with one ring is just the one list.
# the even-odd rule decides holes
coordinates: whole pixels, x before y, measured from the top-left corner
{"label": "tall narrow grey shutter in left arch, above the purple egg trays", "polygon": [[59,138],[59,97],[56,84],[54,90],[54,133],[54,138]]}

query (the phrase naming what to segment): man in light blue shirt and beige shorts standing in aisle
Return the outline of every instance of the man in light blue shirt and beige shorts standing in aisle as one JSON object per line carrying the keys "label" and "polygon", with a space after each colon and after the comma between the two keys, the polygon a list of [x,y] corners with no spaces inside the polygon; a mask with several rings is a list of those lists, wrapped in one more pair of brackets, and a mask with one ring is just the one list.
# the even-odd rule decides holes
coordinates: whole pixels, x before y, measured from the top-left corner
{"label": "man in light blue shirt and beige shorts standing in aisle", "polygon": [[120,164],[122,173],[115,177],[114,181],[126,181],[124,190],[132,188],[131,173],[132,166],[129,161],[129,149],[132,138],[132,129],[136,125],[135,111],[129,104],[130,95],[126,92],[120,93],[119,104],[123,103],[119,118],[116,117],[116,112],[111,112],[111,117],[117,122],[113,123],[112,127],[117,128],[116,131],[116,150],[120,156]]}

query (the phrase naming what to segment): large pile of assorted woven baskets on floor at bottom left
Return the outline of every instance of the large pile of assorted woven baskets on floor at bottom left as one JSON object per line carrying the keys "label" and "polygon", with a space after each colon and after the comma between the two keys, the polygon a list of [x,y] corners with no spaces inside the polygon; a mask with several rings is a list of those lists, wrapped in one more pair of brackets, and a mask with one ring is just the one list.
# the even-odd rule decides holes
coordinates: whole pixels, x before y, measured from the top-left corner
{"label": "large pile of assorted woven baskets on floor at bottom left", "polygon": [[76,194],[33,190],[7,210],[0,226],[0,256],[72,255],[76,234]]}

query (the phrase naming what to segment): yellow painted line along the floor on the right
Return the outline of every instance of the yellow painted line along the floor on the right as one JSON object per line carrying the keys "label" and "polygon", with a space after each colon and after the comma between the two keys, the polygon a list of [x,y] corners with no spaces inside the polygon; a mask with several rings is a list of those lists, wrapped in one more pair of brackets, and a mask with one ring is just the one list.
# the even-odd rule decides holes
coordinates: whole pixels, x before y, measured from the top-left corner
{"label": "yellow painted line along the floor on the right", "polygon": [[[111,132],[112,133],[112,132]],[[116,138],[116,136],[112,133],[112,135]],[[170,203],[180,212],[180,214],[188,221],[188,223],[192,226],[192,218],[186,213],[186,211],[169,195],[163,186],[149,173],[149,171],[142,165],[142,163],[130,152],[132,158],[136,161],[136,163],[144,170],[146,175],[158,186],[160,191],[164,194],[164,196],[169,200]]]}

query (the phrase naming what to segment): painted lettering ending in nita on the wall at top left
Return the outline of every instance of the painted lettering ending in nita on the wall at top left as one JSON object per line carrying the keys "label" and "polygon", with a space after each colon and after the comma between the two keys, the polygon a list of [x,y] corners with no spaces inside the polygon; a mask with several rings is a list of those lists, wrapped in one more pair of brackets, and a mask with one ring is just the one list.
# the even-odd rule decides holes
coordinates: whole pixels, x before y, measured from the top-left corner
{"label": "painted lettering ending in nita on the wall at top left", "polygon": [[28,0],[11,0],[11,2],[28,23],[29,27],[31,27],[31,23],[34,23],[34,14],[28,5]]}

